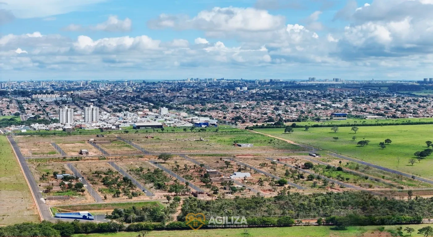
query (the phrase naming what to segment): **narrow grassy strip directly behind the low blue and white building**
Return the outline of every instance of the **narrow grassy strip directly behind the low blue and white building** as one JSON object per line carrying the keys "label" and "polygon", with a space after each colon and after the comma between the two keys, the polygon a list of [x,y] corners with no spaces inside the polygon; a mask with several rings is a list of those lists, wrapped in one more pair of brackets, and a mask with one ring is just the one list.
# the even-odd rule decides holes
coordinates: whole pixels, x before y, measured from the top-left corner
{"label": "narrow grassy strip directly behind the low blue and white building", "polygon": [[101,203],[101,204],[86,204],[86,205],[67,205],[67,206],[56,206],[57,209],[70,210],[70,211],[89,211],[89,210],[107,210],[114,208],[142,208],[145,206],[157,206],[161,205],[160,202],[119,202],[119,203]]}

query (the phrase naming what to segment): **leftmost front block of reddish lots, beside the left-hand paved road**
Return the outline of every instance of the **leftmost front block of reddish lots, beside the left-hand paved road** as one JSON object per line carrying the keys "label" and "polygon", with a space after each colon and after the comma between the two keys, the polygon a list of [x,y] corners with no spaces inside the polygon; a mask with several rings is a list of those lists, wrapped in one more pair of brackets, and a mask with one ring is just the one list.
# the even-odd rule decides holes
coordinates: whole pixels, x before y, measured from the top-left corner
{"label": "leftmost front block of reddish lots, beside the left-hand paved road", "polygon": [[[91,203],[95,202],[95,199],[87,192],[87,189],[82,189],[84,192],[68,188],[65,185],[61,189],[60,184],[62,180],[56,179],[53,175],[54,172],[59,174],[72,174],[72,171],[66,165],[66,163],[31,163],[29,162],[29,168],[32,171],[33,177],[36,183],[39,185],[39,189],[43,192],[42,196],[63,196],[68,195],[70,199],[67,200],[49,200],[49,205],[66,205],[75,203]],[[65,182],[71,182],[72,184],[79,183],[79,180],[70,180]],[[52,190],[47,190],[48,186],[52,186]]]}

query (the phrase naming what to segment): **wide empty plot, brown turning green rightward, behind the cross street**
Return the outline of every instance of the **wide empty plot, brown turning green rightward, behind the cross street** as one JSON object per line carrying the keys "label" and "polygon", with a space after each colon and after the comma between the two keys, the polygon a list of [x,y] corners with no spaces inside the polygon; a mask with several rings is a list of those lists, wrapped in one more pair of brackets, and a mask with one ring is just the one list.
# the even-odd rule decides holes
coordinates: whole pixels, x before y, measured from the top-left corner
{"label": "wide empty plot, brown turning green rightward, behind the cross street", "polygon": [[[154,138],[145,138],[151,135]],[[121,135],[135,144],[154,152],[221,152],[221,151],[300,151],[301,147],[278,139],[244,130],[219,132],[177,132]],[[238,147],[234,143],[251,143],[254,147]]]}

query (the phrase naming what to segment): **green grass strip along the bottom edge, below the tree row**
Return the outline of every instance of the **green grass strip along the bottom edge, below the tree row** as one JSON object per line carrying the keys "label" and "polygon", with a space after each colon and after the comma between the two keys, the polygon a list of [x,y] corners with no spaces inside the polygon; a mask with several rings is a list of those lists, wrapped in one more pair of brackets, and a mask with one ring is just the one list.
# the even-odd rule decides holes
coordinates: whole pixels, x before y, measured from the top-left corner
{"label": "green grass strip along the bottom edge, below the tree row", "polygon": [[[401,225],[405,228],[410,226],[415,229],[412,236],[422,236],[417,234],[417,230],[427,226],[427,224],[420,225]],[[386,226],[386,232],[396,232],[398,226]],[[200,229],[197,231],[151,231],[148,237],[355,237],[355,236],[391,236],[389,233],[381,233],[380,226],[363,226],[363,227],[348,227],[344,231],[332,230],[329,226],[293,226],[293,227],[266,227],[266,228],[233,228],[233,229]],[[409,236],[403,231],[405,236]],[[105,234],[75,234],[74,237],[136,237],[137,232],[119,232],[119,233],[105,233]]]}

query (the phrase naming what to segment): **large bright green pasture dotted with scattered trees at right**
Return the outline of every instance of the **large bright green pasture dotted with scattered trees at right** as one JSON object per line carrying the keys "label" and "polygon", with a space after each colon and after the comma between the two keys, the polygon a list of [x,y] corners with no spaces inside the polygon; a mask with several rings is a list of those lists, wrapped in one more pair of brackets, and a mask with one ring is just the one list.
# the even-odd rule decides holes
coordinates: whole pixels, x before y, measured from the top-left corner
{"label": "large bright green pasture dotted with scattered trees at right", "polygon": [[[351,127],[339,127],[334,133],[331,128],[295,128],[291,134],[284,134],[284,128],[264,128],[254,131],[262,132],[290,141],[308,144],[327,151],[336,152],[359,160],[375,163],[395,170],[401,170],[433,178],[433,155],[423,159],[412,166],[408,161],[414,157],[415,151],[427,149],[425,141],[433,141],[433,125],[398,125],[398,126],[366,126],[359,127],[355,134]],[[355,141],[352,137],[356,136]],[[339,139],[335,141],[333,137]],[[359,147],[357,142],[365,138],[369,140],[368,146]],[[392,143],[385,149],[379,147],[379,142],[391,139]],[[398,162],[397,157],[400,158]]]}

